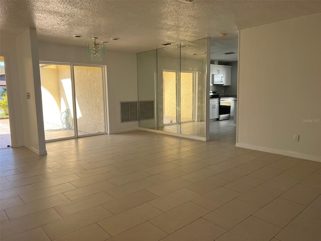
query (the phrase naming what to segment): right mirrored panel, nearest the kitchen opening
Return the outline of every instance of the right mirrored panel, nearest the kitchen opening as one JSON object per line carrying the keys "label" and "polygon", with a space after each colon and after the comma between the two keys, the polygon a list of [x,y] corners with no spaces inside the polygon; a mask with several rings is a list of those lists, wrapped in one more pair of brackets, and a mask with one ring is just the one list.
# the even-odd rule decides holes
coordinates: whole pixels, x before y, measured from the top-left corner
{"label": "right mirrored panel, nearest the kitchen opening", "polygon": [[[205,137],[206,39],[184,43],[182,46],[188,47],[181,48],[181,133]],[[194,74],[193,81],[190,78],[191,72]],[[192,111],[191,121],[188,121],[191,118],[189,111]]]}

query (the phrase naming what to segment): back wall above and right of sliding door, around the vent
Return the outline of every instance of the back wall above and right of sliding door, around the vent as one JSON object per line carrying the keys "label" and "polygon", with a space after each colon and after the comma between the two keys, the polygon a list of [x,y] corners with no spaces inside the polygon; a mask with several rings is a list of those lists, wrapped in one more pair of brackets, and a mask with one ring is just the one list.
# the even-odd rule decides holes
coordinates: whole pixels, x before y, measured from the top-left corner
{"label": "back wall above and right of sliding door, around the vent", "polygon": [[[107,44],[108,49],[108,44]],[[120,123],[120,101],[137,101],[136,54],[108,51],[101,62],[92,62],[84,47],[39,43],[40,61],[107,66],[107,98],[110,134],[136,130],[138,122]]]}

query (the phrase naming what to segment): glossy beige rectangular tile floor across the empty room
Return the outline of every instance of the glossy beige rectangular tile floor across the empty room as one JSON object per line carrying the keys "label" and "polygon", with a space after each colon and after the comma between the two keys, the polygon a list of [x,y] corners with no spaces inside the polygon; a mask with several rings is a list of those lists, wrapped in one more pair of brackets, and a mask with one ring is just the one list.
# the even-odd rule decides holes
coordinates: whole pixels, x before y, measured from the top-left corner
{"label": "glossy beige rectangular tile floor across the empty room", "polygon": [[135,131],[0,150],[0,239],[321,240],[321,163],[236,148],[219,125],[209,142]]}

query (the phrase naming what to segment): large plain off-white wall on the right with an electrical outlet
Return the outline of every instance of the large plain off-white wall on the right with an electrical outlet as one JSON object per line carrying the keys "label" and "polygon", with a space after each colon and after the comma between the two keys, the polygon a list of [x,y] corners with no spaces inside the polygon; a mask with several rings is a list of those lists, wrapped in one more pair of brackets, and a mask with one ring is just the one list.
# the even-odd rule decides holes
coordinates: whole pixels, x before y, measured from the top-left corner
{"label": "large plain off-white wall on the right with an electrical outlet", "polygon": [[[321,14],[240,31],[238,147],[321,161]],[[293,141],[299,134],[299,142]]]}

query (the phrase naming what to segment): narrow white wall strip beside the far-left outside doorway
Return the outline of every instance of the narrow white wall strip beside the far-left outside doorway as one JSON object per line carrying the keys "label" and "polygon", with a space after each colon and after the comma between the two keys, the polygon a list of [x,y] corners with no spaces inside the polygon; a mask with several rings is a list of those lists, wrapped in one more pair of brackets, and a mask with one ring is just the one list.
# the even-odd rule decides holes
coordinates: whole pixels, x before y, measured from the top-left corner
{"label": "narrow white wall strip beside the far-left outside doorway", "polygon": [[10,130],[12,147],[23,147],[25,144],[18,74],[16,41],[10,34],[0,33],[0,55],[5,57],[6,84],[10,112]]}

